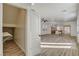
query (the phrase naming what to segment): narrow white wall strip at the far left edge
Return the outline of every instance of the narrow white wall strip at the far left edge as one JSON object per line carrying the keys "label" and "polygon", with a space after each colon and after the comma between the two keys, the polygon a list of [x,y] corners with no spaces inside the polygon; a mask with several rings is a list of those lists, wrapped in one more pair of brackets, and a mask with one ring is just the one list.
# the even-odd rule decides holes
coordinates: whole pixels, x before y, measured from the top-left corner
{"label": "narrow white wall strip at the far left edge", "polygon": [[3,9],[2,9],[2,4],[0,3],[0,56],[3,55],[3,38],[2,38],[2,13],[3,13]]}

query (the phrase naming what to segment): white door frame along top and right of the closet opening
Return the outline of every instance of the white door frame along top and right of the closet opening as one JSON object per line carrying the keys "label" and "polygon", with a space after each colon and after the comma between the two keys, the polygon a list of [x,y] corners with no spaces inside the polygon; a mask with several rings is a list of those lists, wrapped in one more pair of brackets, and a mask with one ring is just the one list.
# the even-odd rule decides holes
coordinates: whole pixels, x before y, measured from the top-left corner
{"label": "white door frame along top and right of the closet opening", "polygon": [[[3,3],[4,4],[4,3]],[[2,5],[3,5],[2,4]],[[20,8],[20,9],[24,9],[24,10],[26,10],[26,16],[28,16],[28,10],[29,10],[29,6],[24,6],[22,3],[5,3],[5,4],[8,4],[8,5],[11,5],[11,6],[13,6],[13,7],[16,7],[16,8]],[[3,6],[2,6],[2,8],[3,8]],[[2,19],[3,20],[3,19]],[[27,30],[26,29],[28,29],[28,25],[27,25],[27,23],[28,23],[28,17],[25,17],[25,56],[27,56],[27,52],[28,52],[28,50],[27,50]],[[3,41],[3,40],[2,40]],[[3,45],[3,44],[2,44]],[[2,46],[3,47],[3,46]],[[3,50],[3,49],[2,49]],[[2,55],[3,55],[3,53],[2,53]]]}

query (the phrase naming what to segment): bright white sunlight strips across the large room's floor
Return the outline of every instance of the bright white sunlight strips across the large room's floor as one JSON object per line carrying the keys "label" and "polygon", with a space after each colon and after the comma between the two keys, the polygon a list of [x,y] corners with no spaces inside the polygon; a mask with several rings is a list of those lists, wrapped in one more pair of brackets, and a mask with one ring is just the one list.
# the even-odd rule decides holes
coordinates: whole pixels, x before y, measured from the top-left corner
{"label": "bright white sunlight strips across the large room's floor", "polygon": [[41,42],[41,48],[71,48],[72,43],[47,43]]}

